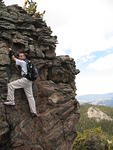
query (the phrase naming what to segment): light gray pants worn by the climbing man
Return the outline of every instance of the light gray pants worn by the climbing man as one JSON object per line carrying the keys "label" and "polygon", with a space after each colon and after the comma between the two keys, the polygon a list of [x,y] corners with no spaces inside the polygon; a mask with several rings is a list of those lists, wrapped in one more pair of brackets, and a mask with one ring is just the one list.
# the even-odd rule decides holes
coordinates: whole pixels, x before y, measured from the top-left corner
{"label": "light gray pants worn by the climbing man", "polygon": [[19,89],[19,88],[23,88],[25,91],[25,94],[29,102],[31,113],[36,113],[36,105],[35,105],[35,100],[32,91],[32,81],[29,81],[26,78],[21,78],[16,81],[8,83],[7,100],[14,103],[14,91],[15,89]]}

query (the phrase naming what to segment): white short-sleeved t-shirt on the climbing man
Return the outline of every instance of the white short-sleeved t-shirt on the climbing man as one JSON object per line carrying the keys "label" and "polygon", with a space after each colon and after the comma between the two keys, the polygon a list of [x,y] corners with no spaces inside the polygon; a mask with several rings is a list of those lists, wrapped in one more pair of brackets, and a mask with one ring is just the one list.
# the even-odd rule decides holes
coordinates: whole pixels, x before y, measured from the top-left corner
{"label": "white short-sleeved t-shirt on the climbing man", "polygon": [[27,64],[24,60],[16,59],[16,65],[21,66],[21,75],[27,74]]}

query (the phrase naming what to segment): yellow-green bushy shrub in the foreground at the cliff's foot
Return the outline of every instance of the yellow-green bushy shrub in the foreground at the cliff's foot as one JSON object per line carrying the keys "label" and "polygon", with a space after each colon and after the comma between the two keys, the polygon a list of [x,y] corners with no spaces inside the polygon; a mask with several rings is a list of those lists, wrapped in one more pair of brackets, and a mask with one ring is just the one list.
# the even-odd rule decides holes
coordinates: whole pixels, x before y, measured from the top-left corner
{"label": "yellow-green bushy shrub in the foreground at the cliff's foot", "polygon": [[78,133],[73,144],[73,150],[111,150],[113,144],[108,143],[108,138],[101,128],[93,128]]}

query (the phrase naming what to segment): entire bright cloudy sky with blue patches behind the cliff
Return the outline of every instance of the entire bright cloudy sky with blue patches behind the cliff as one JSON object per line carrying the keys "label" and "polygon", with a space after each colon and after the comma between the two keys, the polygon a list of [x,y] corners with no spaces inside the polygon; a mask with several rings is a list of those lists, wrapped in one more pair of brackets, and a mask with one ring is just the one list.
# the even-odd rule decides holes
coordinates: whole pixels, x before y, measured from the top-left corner
{"label": "entire bright cloudy sky with blue patches behind the cliff", "polygon": [[[74,58],[77,95],[113,92],[113,0],[35,0],[58,37],[57,55]],[[23,6],[24,0],[5,0]]]}

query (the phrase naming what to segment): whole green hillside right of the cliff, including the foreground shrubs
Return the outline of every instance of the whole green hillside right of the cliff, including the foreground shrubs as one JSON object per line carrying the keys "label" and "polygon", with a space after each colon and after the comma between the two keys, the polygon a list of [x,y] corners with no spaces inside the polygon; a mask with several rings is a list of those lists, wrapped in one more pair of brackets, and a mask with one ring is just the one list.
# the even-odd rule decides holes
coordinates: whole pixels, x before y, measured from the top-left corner
{"label": "whole green hillside right of the cliff, including the foreground shrubs", "polygon": [[[100,120],[89,118],[87,112],[90,108],[99,110],[102,118]],[[93,111],[91,113],[93,116]],[[77,124],[78,136],[73,143],[73,150],[113,150],[113,108],[84,104],[80,107],[80,114]],[[105,120],[105,115],[111,120]]]}

